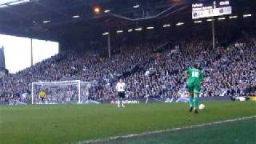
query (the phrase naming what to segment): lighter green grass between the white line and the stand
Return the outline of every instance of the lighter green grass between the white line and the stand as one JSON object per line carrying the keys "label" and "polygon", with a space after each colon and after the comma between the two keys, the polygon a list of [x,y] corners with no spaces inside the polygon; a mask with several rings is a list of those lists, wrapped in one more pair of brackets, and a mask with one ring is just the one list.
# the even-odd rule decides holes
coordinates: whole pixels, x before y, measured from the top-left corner
{"label": "lighter green grass between the white line and the stand", "polygon": [[186,103],[0,106],[0,143],[78,142],[256,115],[256,102],[205,105],[198,115]]}

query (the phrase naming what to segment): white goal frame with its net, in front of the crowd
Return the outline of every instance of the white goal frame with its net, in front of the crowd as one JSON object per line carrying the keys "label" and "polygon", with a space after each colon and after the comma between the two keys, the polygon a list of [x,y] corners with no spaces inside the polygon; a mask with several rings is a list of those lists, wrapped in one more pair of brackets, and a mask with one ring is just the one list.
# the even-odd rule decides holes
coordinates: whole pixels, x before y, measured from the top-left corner
{"label": "white goal frame with its net, in front of the crowd", "polygon": [[[32,104],[64,104],[82,103],[91,97],[90,89],[97,82],[62,81],[62,82],[32,82]],[[40,91],[46,92],[46,98],[42,101]]]}

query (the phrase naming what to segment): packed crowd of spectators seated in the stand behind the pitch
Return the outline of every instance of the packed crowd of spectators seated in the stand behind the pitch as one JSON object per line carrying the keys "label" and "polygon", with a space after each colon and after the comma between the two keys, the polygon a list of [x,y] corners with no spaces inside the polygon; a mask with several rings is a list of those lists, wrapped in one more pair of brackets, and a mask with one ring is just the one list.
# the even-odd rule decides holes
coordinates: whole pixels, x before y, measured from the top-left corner
{"label": "packed crowd of spectators seated in the stand behind the pitch", "polygon": [[91,86],[89,98],[110,99],[116,95],[118,78],[126,82],[129,98],[178,97],[186,86],[182,74],[194,63],[205,72],[201,96],[249,95],[256,86],[256,40],[234,42],[228,47],[212,49],[203,40],[167,43],[143,43],[122,46],[120,54],[101,58],[99,54],[61,52],[18,74],[0,79],[0,101],[27,94],[31,101],[32,82],[81,80],[97,82]]}

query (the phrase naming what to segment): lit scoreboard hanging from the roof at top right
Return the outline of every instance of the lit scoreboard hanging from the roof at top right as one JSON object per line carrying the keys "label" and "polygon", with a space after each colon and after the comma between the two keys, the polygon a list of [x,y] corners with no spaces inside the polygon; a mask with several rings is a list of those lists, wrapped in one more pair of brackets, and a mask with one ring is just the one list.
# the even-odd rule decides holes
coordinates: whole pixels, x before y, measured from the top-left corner
{"label": "lit scoreboard hanging from the roof at top right", "polygon": [[199,0],[192,4],[192,19],[232,14],[230,0]]}

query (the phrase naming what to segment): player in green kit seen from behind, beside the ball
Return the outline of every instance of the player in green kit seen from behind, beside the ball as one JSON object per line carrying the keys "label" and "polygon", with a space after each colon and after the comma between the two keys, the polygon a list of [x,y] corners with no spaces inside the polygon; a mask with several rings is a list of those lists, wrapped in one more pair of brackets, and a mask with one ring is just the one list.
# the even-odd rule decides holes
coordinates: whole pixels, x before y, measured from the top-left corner
{"label": "player in green kit seen from behind, beside the ball", "polygon": [[190,102],[190,112],[194,110],[195,114],[198,114],[199,106],[199,92],[200,86],[204,82],[204,73],[202,70],[198,70],[198,65],[195,64],[194,67],[185,71],[185,77],[188,78],[187,86],[189,89],[189,102]]}

